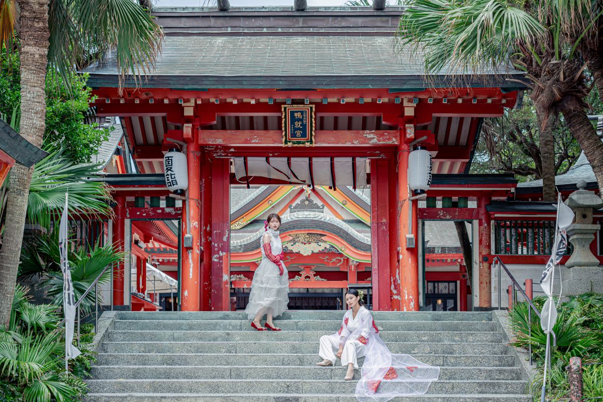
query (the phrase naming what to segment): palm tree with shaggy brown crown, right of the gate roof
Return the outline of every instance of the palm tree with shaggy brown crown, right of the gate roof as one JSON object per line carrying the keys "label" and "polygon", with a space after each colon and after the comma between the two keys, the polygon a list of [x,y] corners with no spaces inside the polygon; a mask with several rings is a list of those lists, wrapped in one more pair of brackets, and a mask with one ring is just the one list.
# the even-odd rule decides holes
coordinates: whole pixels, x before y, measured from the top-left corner
{"label": "palm tree with shaggy brown crown, right of the gate roof", "polygon": [[543,12],[542,3],[525,2],[517,8],[505,0],[413,0],[400,19],[397,37],[425,55],[428,74],[459,66],[451,74],[459,80],[463,74],[498,71],[511,58],[514,67],[526,73],[536,107],[542,157],[549,163],[543,166],[546,198],[554,195],[552,130],[557,113],[563,113],[592,164],[603,194],[603,143],[585,111],[586,66],[575,53],[580,42],[568,46],[563,41],[560,20],[555,13]]}

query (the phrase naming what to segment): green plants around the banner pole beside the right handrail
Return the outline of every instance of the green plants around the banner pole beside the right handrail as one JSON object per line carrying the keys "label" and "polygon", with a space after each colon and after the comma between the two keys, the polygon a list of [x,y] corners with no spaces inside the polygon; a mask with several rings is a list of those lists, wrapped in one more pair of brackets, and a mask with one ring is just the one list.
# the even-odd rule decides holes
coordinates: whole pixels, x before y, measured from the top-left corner
{"label": "green plants around the banner pole beside the right handrail", "polygon": [[[533,303],[541,309],[545,297],[538,297]],[[532,312],[528,320],[528,304],[517,303],[509,311],[514,339],[511,345],[528,348],[532,344],[532,358],[538,367],[538,374],[532,378],[532,394],[540,396],[543,382],[546,335],[540,328],[538,316]],[[567,400],[569,383],[566,366],[569,359],[579,356],[584,366],[582,371],[585,398],[603,396],[603,295],[585,293],[569,297],[558,308],[557,322],[553,328],[557,335],[557,347],[552,347],[551,371],[548,372],[547,396],[552,401]],[[529,334],[528,328],[531,328]],[[539,400],[539,399],[538,399]]]}

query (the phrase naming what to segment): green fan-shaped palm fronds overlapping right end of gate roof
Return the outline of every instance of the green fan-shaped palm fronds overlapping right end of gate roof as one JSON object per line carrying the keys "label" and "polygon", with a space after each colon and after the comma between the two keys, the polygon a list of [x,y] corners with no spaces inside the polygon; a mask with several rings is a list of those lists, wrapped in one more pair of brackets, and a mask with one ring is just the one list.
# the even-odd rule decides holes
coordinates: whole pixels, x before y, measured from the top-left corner
{"label": "green fan-shaped palm fronds overlapping right end of gate roof", "polygon": [[502,0],[412,0],[396,36],[425,57],[426,74],[504,74],[516,43],[545,33],[534,17]]}

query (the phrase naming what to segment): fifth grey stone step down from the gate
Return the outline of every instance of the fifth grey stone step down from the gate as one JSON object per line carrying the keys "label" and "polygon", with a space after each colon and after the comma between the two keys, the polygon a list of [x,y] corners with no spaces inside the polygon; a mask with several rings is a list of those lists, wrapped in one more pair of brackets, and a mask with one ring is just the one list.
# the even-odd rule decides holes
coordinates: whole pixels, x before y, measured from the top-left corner
{"label": "fifth grey stone step down from the gate", "polygon": [[[314,353],[309,354],[170,354],[170,353],[99,353],[96,364],[105,366],[313,366],[320,361]],[[415,354],[412,357],[432,366],[510,367],[514,357],[493,354]],[[362,359],[360,360],[362,362]]]}

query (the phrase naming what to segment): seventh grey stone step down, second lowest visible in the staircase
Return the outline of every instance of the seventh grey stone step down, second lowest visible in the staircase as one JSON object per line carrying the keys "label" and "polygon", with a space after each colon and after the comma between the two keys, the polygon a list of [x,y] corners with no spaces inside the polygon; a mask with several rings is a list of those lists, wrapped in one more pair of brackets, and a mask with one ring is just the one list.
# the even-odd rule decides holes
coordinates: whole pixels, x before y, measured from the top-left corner
{"label": "seventh grey stone step down, second lowest visible in the staircase", "polygon": [[[344,380],[88,380],[90,392],[165,392],[192,394],[350,394],[355,381]],[[428,394],[521,394],[527,383],[520,380],[443,380],[432,383]]]}

